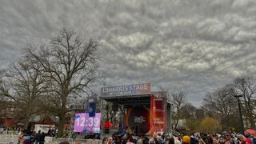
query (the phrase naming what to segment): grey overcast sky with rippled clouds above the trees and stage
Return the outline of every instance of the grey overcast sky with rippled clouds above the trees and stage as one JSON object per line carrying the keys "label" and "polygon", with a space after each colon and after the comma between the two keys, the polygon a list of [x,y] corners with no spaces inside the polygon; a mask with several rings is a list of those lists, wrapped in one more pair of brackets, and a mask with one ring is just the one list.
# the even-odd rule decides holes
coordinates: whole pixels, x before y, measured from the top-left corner
{"label": "grey overcast sky with rippled clouds above the trees and stage", "polygon": [[206,92],[256,72],[255,0],[0,0],[0,68],[62,27],[100,42],[102,85]]}

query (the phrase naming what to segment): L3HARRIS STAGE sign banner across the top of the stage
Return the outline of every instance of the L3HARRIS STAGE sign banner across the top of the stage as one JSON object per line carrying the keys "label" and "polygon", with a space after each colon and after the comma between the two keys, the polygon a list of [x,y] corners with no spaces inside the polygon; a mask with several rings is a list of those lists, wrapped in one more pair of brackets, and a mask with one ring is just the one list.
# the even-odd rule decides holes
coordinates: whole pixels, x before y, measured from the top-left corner
{"label": "L3HARRIS STAGE sign banner across the top of the stage", "polygon": [[102,87],[101,96],[118,96],[118,95],[135,95],[135,94],[150,94],[151,84],[142,83],[126,86],[110,86]]}

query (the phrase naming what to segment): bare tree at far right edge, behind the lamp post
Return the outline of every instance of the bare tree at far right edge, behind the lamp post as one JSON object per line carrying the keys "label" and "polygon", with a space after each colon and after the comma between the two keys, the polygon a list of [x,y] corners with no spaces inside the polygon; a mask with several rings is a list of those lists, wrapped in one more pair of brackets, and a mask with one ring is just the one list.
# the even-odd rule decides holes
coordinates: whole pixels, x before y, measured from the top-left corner
{"label": "bare tree at far right edge, behind the lamp post", "polygon": [[255,128],[256,114],[255,92],[256,78],[251,76],[238,77],[234,80],[234,90],[236,94],[242,95],[243,115],[246,117],[246,122],[250,124],[250,128]]}

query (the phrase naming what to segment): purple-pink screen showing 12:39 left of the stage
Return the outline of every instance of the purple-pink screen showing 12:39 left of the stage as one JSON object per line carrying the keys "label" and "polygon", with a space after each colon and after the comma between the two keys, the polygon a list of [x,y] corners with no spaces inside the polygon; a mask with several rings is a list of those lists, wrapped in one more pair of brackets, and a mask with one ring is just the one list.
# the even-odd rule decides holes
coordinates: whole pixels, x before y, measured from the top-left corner
{"label": "purple-pink screen showing 12:39 left of the stage", "polygon": [[99,133],[101,117],[101,113],[96,113],[94,117],[90,117],[89,113],[75,114],[74,132]]}

